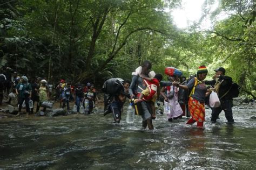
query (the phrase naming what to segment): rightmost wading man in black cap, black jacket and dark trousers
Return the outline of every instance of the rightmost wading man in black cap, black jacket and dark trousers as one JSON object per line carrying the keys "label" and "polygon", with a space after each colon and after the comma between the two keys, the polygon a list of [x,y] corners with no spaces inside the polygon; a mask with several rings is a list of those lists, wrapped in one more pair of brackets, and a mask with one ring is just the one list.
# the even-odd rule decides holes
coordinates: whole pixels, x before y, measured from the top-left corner
{"label": "rightmost wading man in black cap, black jacket and dark trousers", "polygon": [[232,91],[230,90],[232,87],[232,78],[229,76],[225,76],[226,70],[223,67],[214,70],[216,74],[213,76],[213,80],[205,81],[205,84],[214,85],[215,91],[218,93],[220,100],[220,107],[211,108],[212,109],[212,118],[211,122],[215,123],[219,114],[222,110],[225,112],[225,117],[227,122],[233,123],[233,99],[232,99]]}

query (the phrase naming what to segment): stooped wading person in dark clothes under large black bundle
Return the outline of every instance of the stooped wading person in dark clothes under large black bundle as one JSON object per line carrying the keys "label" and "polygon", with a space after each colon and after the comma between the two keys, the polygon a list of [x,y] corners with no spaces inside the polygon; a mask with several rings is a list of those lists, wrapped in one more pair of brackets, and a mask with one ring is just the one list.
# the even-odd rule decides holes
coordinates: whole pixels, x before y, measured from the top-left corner
{"label": "stooped wading person in dark clothes under large black bundle", "polygon": [[126,97],[130,98],[130,95],[129,95],[130,84],[131,82],[129,80],[125,80],[123,82],[124,89],[118,91],[118,93],[113,97],[113,101],[110,104],[110,110],[114,118],[113,123],[120,123]]}

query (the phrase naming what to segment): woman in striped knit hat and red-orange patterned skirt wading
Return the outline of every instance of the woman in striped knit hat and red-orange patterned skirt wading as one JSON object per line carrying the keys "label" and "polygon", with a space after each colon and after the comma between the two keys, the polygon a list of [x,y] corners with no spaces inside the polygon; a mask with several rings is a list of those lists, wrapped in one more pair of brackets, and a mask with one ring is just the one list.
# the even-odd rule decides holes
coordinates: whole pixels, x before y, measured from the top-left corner
{"label": "woman in striped knit hat and red-orange patterned skirt wading", "polygon": [[207,87],[204,82],[207,73],[207,68],[205,66],[200,66],[197,70],[197,77],[191,79],[186,85],[173,82],[174,86],[185,90],[191,90],[190,98],[188,100],[188,110],[190,111],[192,118],[190,118],[186,124],[197,122],[198,128],[203,128],[205,121],[205,97],[206,95],[210,95],[210,92],[207,93]]}

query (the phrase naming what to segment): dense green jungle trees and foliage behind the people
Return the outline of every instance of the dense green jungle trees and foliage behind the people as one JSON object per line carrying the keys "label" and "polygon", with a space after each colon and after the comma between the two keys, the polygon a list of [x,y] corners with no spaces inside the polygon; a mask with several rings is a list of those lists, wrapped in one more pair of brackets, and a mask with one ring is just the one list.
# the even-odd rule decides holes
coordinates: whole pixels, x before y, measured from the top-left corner
{"label": "dense green jungle trees and foliage behind the people", "polygon": [[[207,79],[222,66],[255,98],[254,1],[219,0],[213,12],[211,3],[205,1],[203,17],[214,26],[201,31],[200,20],[185,30],[173,24],[165,9],[172,11],[180,0],[1,0],[0,65],[53,83],[97,84],[130,79],[143,60],[155,72],[173,66],[186,76],[206,65]],[[218,21],[223,11],[230,16]]]}

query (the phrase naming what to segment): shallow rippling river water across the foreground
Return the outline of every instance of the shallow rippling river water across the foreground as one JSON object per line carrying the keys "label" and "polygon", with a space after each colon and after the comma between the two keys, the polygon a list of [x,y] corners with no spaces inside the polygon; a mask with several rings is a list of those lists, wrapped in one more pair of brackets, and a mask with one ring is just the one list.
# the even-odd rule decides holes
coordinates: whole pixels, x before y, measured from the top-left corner
{"label": "shallow rippling river water across the foreground", "polygon": [[0,169],[255,169],[256,109],[234,107],[216,124],[206,109],[204,129],[157,115],[155,130],[112,124],[112,116],[20,117],[0,120]]}

